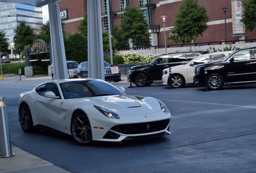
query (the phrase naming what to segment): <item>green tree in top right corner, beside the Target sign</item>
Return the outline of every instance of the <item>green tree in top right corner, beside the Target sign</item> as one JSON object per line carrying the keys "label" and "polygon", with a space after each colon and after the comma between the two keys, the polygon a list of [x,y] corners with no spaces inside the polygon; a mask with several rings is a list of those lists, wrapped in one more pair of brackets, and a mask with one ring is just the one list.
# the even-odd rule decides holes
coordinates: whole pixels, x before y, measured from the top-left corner
{"label": "green tree in top right corner, beside the Target sign", "polygon": [[256,0],[243,1],[243,13],[241,22],[244,23],[245,29],[252,31],[256,27]]}

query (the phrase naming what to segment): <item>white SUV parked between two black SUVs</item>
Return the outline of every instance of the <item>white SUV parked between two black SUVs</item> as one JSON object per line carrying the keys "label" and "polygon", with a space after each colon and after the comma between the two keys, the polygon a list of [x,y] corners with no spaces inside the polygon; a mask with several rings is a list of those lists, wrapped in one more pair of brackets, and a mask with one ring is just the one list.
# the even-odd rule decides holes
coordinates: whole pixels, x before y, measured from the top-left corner
{"label": "white SUV parked between two black SUVs", "polygon": [[[202,54],[190,60],[190,62],[171,67],[171,84],[174,88],[182,88],[185,84],[193,84],[195,75],[195,66],[208,62],[216,62],[223,60],[226,56],[234,51],[213,52]],[[162,81],[164,85],[169,84],[169,68],[163,70]]]}

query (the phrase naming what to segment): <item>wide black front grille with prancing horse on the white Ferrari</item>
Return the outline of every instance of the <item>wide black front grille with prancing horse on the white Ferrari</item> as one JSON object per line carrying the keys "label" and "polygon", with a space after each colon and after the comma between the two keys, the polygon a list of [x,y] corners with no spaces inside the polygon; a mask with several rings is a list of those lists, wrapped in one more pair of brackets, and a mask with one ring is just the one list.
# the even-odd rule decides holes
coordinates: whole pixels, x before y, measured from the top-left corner
{"label": "wide black front grille with prancing horse on the white Ferrari", "polygon": [[166,129],[169,125],[169,119],[161,121],[153,121],[147,123],[135,123],[135,124],[124,124],[116,125],[111,128],[111,130],[118,133],[123,133],[126,135],[142,134],[142,133],[151,133],[162,131]]}

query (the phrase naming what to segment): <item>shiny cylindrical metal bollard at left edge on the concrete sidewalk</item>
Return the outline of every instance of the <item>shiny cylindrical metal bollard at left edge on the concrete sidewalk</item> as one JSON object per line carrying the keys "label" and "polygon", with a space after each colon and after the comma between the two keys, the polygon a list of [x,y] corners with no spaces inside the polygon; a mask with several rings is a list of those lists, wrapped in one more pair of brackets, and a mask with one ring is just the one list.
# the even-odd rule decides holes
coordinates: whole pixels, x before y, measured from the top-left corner
{"label": "shiny cylindrical metal bollard at left edge on the concrete sidewalk", "polygon": [[0,158],[12,157],[6,98],[0,97]]}

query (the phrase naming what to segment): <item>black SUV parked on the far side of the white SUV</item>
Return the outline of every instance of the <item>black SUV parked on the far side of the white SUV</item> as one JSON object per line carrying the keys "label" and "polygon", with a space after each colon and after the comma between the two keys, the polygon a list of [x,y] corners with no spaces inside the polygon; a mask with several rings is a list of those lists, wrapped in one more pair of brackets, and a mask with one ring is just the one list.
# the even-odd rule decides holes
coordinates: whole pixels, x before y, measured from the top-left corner
{"label": "black SUV parked on the far side of the white SUV", "polygon": [[130,67],[127,80],[128,82],[135,83],[137,87],[145,87],[152,84],[153,81],[162,80],[163,69],[170,66],[186,64],[193,58],[208,52],[191,50],[161,54],[149,64]]}

